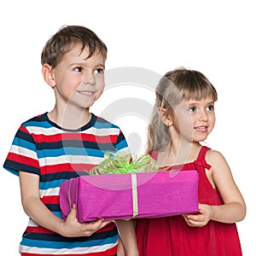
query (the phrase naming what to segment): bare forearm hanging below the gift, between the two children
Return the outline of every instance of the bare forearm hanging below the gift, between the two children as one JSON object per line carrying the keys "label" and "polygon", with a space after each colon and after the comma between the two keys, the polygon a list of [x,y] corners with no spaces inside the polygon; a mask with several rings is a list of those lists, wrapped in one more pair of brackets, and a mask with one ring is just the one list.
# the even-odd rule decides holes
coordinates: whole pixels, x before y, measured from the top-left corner
{"label": "bare forearm hanging below the gift, between the two children", "polygon": [[121,238],[118,248],[118,256],[138,256],[137,238],[134,220],[115,220]]}

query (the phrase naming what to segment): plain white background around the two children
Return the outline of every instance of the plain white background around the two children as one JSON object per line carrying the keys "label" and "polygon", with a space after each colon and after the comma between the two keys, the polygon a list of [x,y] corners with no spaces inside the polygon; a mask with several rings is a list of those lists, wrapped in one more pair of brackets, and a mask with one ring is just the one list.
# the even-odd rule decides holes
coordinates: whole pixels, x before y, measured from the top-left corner
{"label": "plain white background around the two children", "polygon": [[[255,255],[253,1],[9,0],[0,3],[0,13],[2,165],[21,122],[54,106],[53,91],[41,75],[40,54],[45,42],[63,25],[88,26],[108,45],[107,70],[143,67],[164,74],[184,66],[200,70],[215,85],[217,124],[207,142],[224,154],[247,202],[247,217],[237,226],[244,255]],[[129,88],[124,89],[125,94],[118,87],[111,93],[106,90],[92,111],[100,114],[124,96],[153,104],[150,91],[123,87]],[[125,113],[116,123],[126,137],[139,137],[143,144],[145,120]],[[1,255],[17,256],[27,218],[20,205],[18,177],[3,168],[0,196]]]}

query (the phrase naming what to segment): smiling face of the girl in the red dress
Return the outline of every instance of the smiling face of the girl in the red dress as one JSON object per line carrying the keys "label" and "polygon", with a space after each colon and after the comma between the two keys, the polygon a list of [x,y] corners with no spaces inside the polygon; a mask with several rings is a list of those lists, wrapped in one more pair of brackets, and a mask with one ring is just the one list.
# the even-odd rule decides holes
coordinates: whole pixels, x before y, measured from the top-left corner
{"label": "smiling face of the girl in the red dress", "polygon": [[211,96],[200,101],[183,101],[175,108],[172,118],[172,129],[189,142],[206,140],[214,125],[214,102]]}

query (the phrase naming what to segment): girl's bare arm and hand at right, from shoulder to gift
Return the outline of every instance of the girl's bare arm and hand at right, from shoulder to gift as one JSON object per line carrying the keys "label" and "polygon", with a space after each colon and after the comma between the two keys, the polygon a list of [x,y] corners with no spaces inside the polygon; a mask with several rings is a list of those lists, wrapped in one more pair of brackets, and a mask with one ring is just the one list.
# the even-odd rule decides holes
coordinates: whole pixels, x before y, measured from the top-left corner
{"label": "girl's bare arm and hand at right, from shoulder to gift", "polygon": [[245,218],[246,204],[232,177],[230,167],[218,151],[208,150],[207,162],[212,166],[209,172],[212,182],[224,201],[221,206],[199,205],[199,214],[188,214],[184,218],[190,226],[203,226],[209,220],[222,223],[236,223]]}

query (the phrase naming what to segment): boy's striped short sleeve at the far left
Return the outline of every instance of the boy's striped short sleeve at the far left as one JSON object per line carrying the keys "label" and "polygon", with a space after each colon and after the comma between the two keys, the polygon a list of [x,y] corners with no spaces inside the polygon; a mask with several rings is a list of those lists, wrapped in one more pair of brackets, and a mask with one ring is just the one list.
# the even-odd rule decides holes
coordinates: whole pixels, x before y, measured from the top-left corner
{"label": "boy's striped short sleeve at the far left", "polygon": [[20,125],[19,130],[15,134],[9,154],[3,163],[3,168],[17,176],[19,172],[30,172],[40,175],[36,143],[32,134],[23,125]]}

